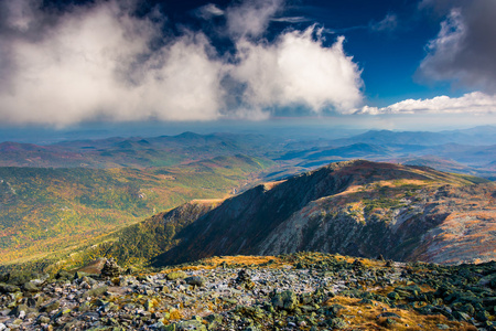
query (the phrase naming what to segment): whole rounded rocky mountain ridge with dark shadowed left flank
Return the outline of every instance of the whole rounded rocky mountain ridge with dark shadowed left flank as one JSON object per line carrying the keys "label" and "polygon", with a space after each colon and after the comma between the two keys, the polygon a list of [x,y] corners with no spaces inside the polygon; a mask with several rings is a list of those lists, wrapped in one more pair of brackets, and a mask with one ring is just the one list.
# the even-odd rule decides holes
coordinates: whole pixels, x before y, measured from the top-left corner
{"label": "whole rounded rocky mountain ridge with dark shadowed left flank", "polygon": [[[332,163],[182,217],[155,266],[215,255],[320,250],[443,264],[496,258],[496,186],[430,168]],[[171,222],[173,211],[163,216]]]}

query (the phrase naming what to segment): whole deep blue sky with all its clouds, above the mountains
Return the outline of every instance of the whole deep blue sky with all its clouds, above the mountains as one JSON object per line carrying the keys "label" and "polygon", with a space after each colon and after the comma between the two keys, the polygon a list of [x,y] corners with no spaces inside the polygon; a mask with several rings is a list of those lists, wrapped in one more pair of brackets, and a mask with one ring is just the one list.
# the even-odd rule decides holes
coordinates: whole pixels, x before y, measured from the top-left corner
{"label": "whole deep blue sky with all its clouds, above the mountains", "polygon": [[0,0],[0,129],[496,125],[494,17],[494,0]]}

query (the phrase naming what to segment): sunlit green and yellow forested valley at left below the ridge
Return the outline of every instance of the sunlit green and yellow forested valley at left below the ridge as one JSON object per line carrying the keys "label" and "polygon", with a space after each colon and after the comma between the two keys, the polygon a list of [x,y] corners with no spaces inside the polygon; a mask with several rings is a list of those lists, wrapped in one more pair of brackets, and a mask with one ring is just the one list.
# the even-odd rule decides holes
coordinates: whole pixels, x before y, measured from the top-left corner
{"label": "sunlit green and yellow forested valley at left below the ridge", "polygon": [[192,199],[225,197],[271,164],[238,154],[175,168],[0,168],[0,263],[98,241]]}

